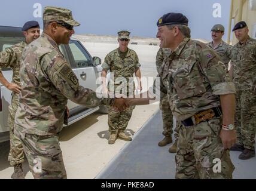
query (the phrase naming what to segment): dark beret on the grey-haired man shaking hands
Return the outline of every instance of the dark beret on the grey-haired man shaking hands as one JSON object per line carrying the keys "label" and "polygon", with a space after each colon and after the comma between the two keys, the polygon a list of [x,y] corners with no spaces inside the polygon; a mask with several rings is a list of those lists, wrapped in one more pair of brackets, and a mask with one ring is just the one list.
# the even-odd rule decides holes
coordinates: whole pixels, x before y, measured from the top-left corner
{"label": "dark beret on the grey-haired man shaking hands", "polygon": [[163,26],[167,24],[184,24],[188,25],[188,19],[186,16],[184,16],[181,13],[167,13],[164,14],[163,17],[161,17],[157,21],[157,26]]}

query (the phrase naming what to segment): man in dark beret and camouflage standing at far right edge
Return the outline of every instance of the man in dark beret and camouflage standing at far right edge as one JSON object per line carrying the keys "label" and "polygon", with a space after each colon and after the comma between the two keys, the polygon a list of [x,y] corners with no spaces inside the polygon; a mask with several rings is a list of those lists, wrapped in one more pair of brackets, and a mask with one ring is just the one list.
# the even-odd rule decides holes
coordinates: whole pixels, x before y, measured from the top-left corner
{"label": "man in dark beret and camouflage standing at far right edge", "polygon": [[248,36],[245,21],[234,26],[239,40],[232,50],[231,70],[236,87],[237,143],[230,150],[241,151],[239,159],[255,156],[256,132],[256,40]]}

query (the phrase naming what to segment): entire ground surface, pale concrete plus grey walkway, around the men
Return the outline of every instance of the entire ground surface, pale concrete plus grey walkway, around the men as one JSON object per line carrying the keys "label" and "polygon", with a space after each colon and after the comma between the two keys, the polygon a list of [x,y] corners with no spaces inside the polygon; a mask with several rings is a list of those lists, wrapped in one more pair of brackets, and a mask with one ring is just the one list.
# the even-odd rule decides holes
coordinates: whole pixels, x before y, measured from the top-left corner
{"label": "entire ground surface, pale concrete plus grey walkway, around the men", "polygon": [[[118,47],[117,44],[109,43],[83,44],[92,56],[99,56],[102,61],[109,51]],[[129,47],[138,53],[142,76],[156,76],[154,61],[159,47],[139,44]],[[146,85],[144,90],[148,88]],[[114,145],[108,144],[107,115],[93,113],[64,128],[60,134],[60,147],[68,178],[174,178],[174,154],[168,153],[169,146],[157,146],[158,141],[163,138],[160,114],[157,113],[144,125],[158,108],[157,104],[136,107],[126,131],[127,134],[134,135],[130,143],[117,140]],[[143,125],[139,133],[136,133]],[[10,178],[13,172],[7,162],[9,144],[8,141],[0,143],[0,178]],[[256,178],[256,158],[240,161],[237,159],[238,155],[239,152],[231,153],[236,165],[234,178]],[[24,166],[26,178],[33,178],[27,162]],[[102,173],[99,174],[100,171]],[[121,176],[117,176],[118,174]]]}

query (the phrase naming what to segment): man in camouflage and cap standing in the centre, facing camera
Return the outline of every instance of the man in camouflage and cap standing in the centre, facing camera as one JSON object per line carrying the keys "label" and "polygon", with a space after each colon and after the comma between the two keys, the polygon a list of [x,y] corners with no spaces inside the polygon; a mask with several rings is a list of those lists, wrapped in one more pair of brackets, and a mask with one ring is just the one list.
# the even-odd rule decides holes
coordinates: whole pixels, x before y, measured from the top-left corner
{"label": "man in camouflage and cap standing in the centre, facing camera", "polygon": [[[130,32],[122,30],[118,32],[118,43],[119,47],[111,51],[105,57],[105,61],[102,64],[102,83],[103,92],[109,95],[124,94],[124,96],[133,96],[134,94],[134,82],[133,73],[135,73],[138,81],[137,90],[141,91],[141,70],[139,67],[139,58],[135,51],[128,48],[130,41]],[[106,72],[111,72],[111,79],[114,82],[114,87],[111,87],[112,83],[109,83],[109,91],[106,85]],[[132,111],[135,106],[129,107],[123,112],[116,111],[115,109],[108,107],[108,126],[110,137],[108,140],[109,144],[114,144],[117,138],[131,141],[132,137],[124,134],[128,122],[132,116]]]}

